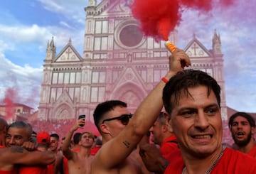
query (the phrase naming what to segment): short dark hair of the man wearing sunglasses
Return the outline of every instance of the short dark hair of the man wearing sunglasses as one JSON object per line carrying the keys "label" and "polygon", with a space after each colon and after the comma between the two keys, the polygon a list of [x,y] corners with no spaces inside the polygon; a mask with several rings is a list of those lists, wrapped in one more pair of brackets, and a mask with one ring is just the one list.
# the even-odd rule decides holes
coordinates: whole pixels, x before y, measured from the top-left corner
{"label": "short dark hair of the man wearing sunglasses", "polygon": [[100,119],[102,119],[104,114],[110,112],[115,107],[127,107],[127,104],[120,100],[109,100],[107,102],[102,102],[97,105],[95,112],[93,113],[93,119],[95,121],[95,126],[100,132]]}

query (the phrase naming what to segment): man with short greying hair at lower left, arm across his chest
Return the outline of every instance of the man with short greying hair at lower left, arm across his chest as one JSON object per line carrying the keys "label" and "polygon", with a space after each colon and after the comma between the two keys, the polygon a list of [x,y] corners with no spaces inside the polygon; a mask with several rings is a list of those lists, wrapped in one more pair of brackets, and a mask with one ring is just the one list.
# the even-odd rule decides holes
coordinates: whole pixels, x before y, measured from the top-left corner
{"label": "man with short greying hair at lower left, arm across his chest", "polygon": [[46,168],[46,165],[55,161],[54,154],[50,151],[27,151],[21,147],[24,146],[24,143],[31,141],[31,133],[30,124],[26,121],[16,121],[7,127],[6,134],[0,134],[0,139],[6,138],[7,146],[0,148],[0,173],[17,173],[17,167],[22,168],[22,166],[27,168],[38,166],[37,171],[47,173],[43,167]]}

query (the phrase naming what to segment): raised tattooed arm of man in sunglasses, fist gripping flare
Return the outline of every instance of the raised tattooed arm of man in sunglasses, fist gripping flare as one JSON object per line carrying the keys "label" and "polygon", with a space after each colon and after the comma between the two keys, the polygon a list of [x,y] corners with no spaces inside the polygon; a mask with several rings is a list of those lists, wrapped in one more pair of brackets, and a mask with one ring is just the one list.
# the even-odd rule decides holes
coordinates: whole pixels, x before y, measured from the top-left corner
{"label": "raised tattooed arm of man in sunglasses, fist gripping flare", "polygon": [[[183,70],[184,65],[191,65],[188,55],[183,50],[177,49],[174,55],[169,57],[170,70],[165,78],[169,80],[172,76],[176,75],[176,72]],[[154,121],[161,112],[164,85],[165,82],[160,80],[159,84],[139,105],[125,129],[117,137],[102,146],[100,153],[95,157],[97,165],[101,165],[102,168],[114,168],[114,166],[122,163],[136,148],[137,143],[146,134],[150,126],[154,124]]]}

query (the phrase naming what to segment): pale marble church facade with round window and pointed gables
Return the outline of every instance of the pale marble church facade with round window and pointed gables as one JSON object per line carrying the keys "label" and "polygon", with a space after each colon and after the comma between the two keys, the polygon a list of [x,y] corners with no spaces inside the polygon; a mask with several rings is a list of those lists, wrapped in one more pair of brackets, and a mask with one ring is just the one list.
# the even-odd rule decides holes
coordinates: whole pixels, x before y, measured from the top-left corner
{"label": "pale marble church facade with round window and pointed gables", "polygon": [[[109,99],[127,102],[134,112],[144,97],[161,80],[168,68],[169,51],[164,41],[156,43],[139,31],[129,0],[89,0],[85,8],[85,35],[80,55],[70,39],[56,55],[52,39],[43,64],[38,119],[60,121],[86,114],[93,122],[98,103]],[[193,33],[191,33],[192,36]],[[178,31],[169,35],[178,45]],[[212,48],[207,49],[194,35],[182,48],[190,56],[193,69],[212,75],[222,88],[221,112],[228,119],[223,79],[223,53],[220,36],[213,31]]]}

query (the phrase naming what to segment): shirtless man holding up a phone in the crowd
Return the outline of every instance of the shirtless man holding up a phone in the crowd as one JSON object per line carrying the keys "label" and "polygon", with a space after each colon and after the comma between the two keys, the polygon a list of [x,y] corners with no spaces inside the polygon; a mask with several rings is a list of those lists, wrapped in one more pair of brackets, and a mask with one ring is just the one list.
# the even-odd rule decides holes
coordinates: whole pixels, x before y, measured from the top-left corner
{"label": "shirtless man holding up a phone in the crowd", "polygon": [[78,130],[78,128],[83,129],[80,124],[85,124],[85,119],[79,119],[63,141],[62,151],[65,158],[68,159],[68,173],[70,174],[90,174],[91,172],[93,156],[90,156],[90,148],[92,148],[94,142],[93,134],[88,131],[81,134],[79,141],[80,151],[73,151],[69,148],[74,131]]}

